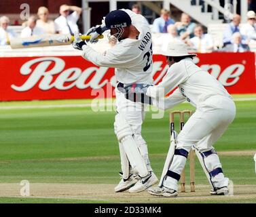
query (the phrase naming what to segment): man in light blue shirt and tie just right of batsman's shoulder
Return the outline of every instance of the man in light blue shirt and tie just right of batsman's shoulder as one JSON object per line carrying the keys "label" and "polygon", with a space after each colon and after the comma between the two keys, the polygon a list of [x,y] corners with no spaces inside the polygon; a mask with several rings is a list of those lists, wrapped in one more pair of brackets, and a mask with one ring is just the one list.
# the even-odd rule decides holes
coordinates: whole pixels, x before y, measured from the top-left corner
{"label": "man in light blue shirt and tie just right of batsman's shoulder", "polygon": [[174,20],[170,18],[170,12],[162,9],[160,18],[153,21],[152,33],[167,33],[167,26],[170,24],[175,24]]}

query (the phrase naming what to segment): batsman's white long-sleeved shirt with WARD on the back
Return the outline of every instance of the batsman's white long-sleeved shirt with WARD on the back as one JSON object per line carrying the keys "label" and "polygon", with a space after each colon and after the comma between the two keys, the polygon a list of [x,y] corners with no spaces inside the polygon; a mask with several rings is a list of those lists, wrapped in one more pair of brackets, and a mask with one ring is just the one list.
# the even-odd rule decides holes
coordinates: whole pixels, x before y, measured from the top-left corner
{"label": "batsman's white long-sleeved shirt with WARD on the back", "polygon": [[129,9],[132,25],[140,32],[138,39],[124,39],[99,54],[88,45],[83,46],[83,57],[98,66],[115,67],[117,81],[129,83],[153,83],[152,71],[152,39],[149,24],[145,18]]}

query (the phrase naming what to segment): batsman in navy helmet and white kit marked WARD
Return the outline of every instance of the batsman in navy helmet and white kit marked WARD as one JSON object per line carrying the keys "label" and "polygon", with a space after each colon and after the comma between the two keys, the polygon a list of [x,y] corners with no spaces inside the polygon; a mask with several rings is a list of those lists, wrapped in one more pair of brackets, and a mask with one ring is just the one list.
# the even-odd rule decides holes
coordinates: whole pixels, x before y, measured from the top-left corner
{"label": "batsman in navy helmet and white kit marked WARD", "polygon": [[149,24],[145,18],[129,9],[114,10],[107,14],[103,24],[92,27],[86,35],[90,42],[110,30],[109,40],[117,43],[100,54],[75,33],[73,47],[83,51],[83,58],[97,66],[115,68],[116,112],[115,134],[120,147],[122,179],[115,192],[144,191],[158,182],[149,162],[147,143],[141,136],[145,118],[144,104],[131,102],[124,97],[124,87],[130,83],[152,84],[152,40]]}

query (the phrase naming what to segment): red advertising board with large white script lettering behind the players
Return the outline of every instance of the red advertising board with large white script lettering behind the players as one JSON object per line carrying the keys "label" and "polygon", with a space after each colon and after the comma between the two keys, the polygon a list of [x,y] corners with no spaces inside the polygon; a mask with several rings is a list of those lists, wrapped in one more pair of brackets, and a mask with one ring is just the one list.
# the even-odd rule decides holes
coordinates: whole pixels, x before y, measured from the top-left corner
{"label": "red advertising board with large white script lettering behind the players", "polygon": [[[230,94],[256,93],[254,53],[198,54],[196,62]],[[167,68],[164,56],[153,56],[155,83]],[[92,90],[113,88],[116,82],[113,68],[95,66],[81,56],[0,58],[0,77],[1,101],[94,98]]]}

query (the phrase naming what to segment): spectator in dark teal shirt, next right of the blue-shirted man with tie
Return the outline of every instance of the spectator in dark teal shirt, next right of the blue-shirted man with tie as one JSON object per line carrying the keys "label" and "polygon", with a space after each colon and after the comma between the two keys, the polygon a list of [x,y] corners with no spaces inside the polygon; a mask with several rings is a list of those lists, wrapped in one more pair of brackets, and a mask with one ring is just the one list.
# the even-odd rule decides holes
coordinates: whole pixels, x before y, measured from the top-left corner
{"label": "spectator in dark teal shirt, next right of the blue-shirted man with tie", "polygon": [[188,14],[181,14],[181,22],[176,22],[175,26],[177,27],[178,35],[181,37],[181,40],[194,37],[194,28],[196,24],[191,22],[191,18]]}

